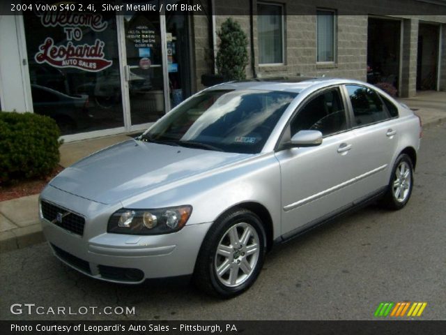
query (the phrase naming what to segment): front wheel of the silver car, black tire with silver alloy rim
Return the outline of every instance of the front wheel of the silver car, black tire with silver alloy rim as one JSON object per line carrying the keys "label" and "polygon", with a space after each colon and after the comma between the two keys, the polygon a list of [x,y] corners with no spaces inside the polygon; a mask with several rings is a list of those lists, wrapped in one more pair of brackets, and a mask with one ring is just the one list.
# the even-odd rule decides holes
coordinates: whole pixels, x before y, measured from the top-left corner
{"label": "front wheel of the silver car, black tire with silver alloy rim", "polygon": [[259,216],[247,209],[234,209],[215,221],[206,234],[194,283],[217,297],[240,295],[259,276],[265,253],[266,234]]}

